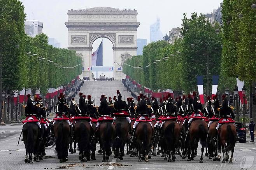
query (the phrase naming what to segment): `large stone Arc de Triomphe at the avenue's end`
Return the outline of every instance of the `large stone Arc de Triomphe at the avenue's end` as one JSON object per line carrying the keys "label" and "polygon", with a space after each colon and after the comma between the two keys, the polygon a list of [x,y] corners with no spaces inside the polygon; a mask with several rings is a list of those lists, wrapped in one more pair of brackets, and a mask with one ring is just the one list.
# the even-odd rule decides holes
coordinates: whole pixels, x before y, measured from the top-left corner
{"label": "large stone Arc de Triomphe at the avenue's end", "polygon": [[114,78],[123,78],[123,69],[117,71],[127,57],[137,55],[137,10],[119,10],[95,7],[68,10],[68,49],[76,50],[83,58],[82,76],[91,78],[92,45],[97,38],[105,37],[113,43]]}

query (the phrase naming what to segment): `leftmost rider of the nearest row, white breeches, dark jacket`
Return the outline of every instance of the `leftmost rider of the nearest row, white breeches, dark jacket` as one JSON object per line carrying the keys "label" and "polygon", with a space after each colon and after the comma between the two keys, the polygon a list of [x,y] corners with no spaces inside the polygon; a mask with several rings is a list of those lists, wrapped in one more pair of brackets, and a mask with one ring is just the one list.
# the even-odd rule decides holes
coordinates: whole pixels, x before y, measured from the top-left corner
{"label": "leftmost rider of the nearest row, white breeches, dark jacket", "polygon": [[[28,97],[28,100],[27,100],[26,107],[25,107],[25,116],[26,116],[25,121],[40,120],[40,113],[38,112],[39,105],[33,104],[34,100],[31,98],[30,94],[28,94],[27,97]],[[23,126],[26,123],[27,122],[23,123]],[[39,140],[41,141],[41,140],[43,140],[44,130],[42,129],[42,126],[39,121],[37,121],[35,123],[37,123],[39,130],[40,130]],[[23,141],[23,139],[21,139],[21,141]]]}

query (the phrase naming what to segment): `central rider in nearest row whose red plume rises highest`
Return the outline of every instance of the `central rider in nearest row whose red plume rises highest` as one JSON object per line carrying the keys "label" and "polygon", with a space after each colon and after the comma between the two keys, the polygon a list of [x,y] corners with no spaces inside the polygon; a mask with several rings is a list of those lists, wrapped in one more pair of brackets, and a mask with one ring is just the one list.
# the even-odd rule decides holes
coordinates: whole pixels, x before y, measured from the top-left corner
{"label": "central rider in nearest row whose red plume rises highest", "polygon": [[[129,109],[128,105],[126,104],[125,101],[122,100],[122,96],[121,96],[121,93],[119,92],[119,90],[116,90],[116,94],[117,94],[117,101],[114,102],[114,104],[113,104],[114,110],[118,114],[127,114],[128,115],[128,117],[125,117],[125,118],[128,121],[128,123],[129,123],[130,131],[131,131],[131,127],[132,127],[131,123],[132,123],[132,121],[130,119],[130,114],[128,113],[128,109]],[[114,117],[114,121],[116,119],[117,118]]]}

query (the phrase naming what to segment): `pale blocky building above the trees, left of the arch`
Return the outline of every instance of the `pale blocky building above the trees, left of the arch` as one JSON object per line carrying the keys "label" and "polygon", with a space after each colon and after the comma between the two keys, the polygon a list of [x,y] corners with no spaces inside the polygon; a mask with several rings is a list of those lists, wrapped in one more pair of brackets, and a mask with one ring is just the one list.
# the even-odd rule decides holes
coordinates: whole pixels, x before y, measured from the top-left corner
{"label": "pale blocky building above the trees, left of the arch", "polygon": [[43,33],[43,23],[37,20],[26,20],[25,33],[31,37]]}

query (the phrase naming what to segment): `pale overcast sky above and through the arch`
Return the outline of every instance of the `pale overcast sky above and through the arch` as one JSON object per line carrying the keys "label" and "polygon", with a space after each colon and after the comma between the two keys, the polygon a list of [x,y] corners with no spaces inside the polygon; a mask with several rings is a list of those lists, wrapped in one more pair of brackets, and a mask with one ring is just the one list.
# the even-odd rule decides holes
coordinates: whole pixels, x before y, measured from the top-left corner
{"label": "pale overcast sky above and through the arch", "polygon": [[[172,28],[181,27],[183,14],[191,16],[192,12],[212,13],[223,0],[21,0],[25,7],[26,19],[43,22],[43,32],[48,37],[61,43],[61,48],[68,47],[67,12],[69,9],[86,9],[91,7],[114,7],[118,9],[136,9],[137,38],[147,39],[149,43],[149,26],[160,18],[163,35]],[[106,38],[98,38],[93,43],[93,50],[103,39],[103,65],[113,65],[112,43]]]}

